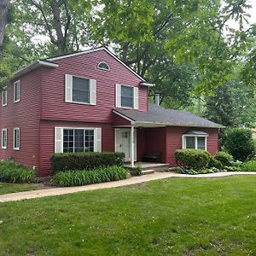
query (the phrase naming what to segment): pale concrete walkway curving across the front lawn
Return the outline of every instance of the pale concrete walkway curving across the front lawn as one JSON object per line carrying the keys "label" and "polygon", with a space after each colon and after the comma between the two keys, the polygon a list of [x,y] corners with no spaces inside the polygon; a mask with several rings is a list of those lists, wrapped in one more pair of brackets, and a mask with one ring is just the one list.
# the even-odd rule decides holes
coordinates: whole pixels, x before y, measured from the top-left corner
{"label": "pale concrete walkway curving across the front lawn", "polygon": [[52,196],[52,195],[65,195],[65,194],[71,194],[71,193],[76,193],[81,191],[117,188],[117,187],[137,184],[137,183],[144,183],[151,180],[167,178],[167,177],[194,177],[195,178],[195,177],[226,177],[226,176],[232,176],[232,175],[256,175],[256,172],[216,172],[216,173],[197,174],[197,175],[178,174],[174,172],[154,172],[152,174],[143,175],[139,177],[130,177],[124,180],[116,181],[116,182],[98,183],[98,184],[91,184],[91,185],[85,185],[85,186],[79,186],[79,187],[69,187],[69,188],[40,189],[40,190],[5,194],[5,195],[0,195],[0,202],[21,201],[26,199],[41,198],[41,197]]}

